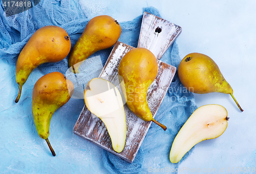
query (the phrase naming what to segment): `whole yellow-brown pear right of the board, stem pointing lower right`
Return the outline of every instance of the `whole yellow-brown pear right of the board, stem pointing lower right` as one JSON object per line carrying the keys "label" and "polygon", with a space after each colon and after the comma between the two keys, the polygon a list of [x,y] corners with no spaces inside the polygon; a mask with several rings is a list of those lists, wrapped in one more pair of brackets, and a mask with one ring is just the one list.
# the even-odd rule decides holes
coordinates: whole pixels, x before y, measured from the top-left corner
{"label": "whole yellow-brown pear right of the board, stem pointing lower right", "polygon": [[179,64],[178,75],[181,83],[190,92],[230,94],[239,109],[244,111],[234,98],[230,84],[224,79],[219,67],[209,56],[201,53],[186,55]]}

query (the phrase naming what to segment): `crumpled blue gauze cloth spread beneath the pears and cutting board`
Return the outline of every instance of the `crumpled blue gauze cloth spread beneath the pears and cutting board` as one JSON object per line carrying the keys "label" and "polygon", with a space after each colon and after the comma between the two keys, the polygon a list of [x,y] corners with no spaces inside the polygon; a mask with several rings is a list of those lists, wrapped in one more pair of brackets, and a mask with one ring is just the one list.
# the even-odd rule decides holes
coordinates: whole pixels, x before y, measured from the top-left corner
{"label": "crumpled blue gauze cloth spread beneath the pears and cutting board", "polygon": [[[161,17],[159,11],[154,7],[144,8],[143,11]],[[69,34],[73,47],[90,20],[88,17],[90,14],[85,9],[82,9],[79,3],[68,0],[42,0],[32,9],[9,17],[5,16],[2,5],[0,14],[2,14],[0,16],[0,56],[1,59],[6,59],[8,63],[13,65],[16,64],[18,54],[37,29],[47,25],[62,27]],[[142,14],[134,20],[119,22],[122,28],[119,41],[137,47]],[[103,65],[106,59],[108,59],[112,48],[96,53],[96,55],[100,55]],[[166,51],[161,60],[172,64],[178,69],[181,58],[176,41]],[[65,74],[68,69],[68,59],[66,57],[57,63],[44,63],[37,69],[43,74],[53,71]],[[93,74],[94,72],[91,73]],[[15,77],[15,74],[13,76]],[[12,78],[12,80],[15,83],[15,78]],[[31,91],[31,89],[29,90]],[[23,93],[22,97],[26,97],[26,89]],[[13,100],[15,99],[14,97],[16,96],[13,96]],[[167,127],[167,130],[164,131],[161,127],[153,123],[150,129],[148,129],[134,162],[131,164],[102,149],[103,165],[111,173],[148,173],[157,171],[160,168],[163,168],[166,172],[177,173],[180,162],[177,164],[170,163],[170,147],[179,129],[196,108],[193,94],[185,90],[176,73],[155,116],[157,121]]]}

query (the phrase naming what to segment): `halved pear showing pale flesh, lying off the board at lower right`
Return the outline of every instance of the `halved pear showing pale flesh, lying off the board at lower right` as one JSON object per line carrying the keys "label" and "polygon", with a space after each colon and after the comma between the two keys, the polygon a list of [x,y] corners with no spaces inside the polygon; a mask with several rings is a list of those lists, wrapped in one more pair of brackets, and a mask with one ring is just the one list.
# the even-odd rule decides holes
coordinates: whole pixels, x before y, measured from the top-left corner
{"label": "halved pear showing pale flesh, lying off the board at lower right", "polygon": [[227,110],[218,104],[203,105],[191,114],[174,139],[170,162],[178,163],[197,143],[221,136],[227,128]]}

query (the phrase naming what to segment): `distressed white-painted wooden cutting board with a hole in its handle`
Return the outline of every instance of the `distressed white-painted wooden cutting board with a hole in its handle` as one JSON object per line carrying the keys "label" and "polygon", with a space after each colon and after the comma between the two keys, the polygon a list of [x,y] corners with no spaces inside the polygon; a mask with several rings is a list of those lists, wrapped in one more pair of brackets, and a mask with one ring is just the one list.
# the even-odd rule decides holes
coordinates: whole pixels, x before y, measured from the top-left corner
{"label": "distressed white-painted wooden cutting board with a hole in its handle", "polygon": [[[169,46],[173,44],[180,32],[181,27],[153,14],[144,12],[138,47],[147,48],[152,51],[158,59],[157,77],[147,91],[147,102],[153,117],[155,117],[176,72],[174,66],[164,63],[159,59]],[[120,60],[133,48],[134,47],[118,41],[99,77],[109,80],[113,84],[117,84],[117,72]],[[78,117],[73,132],[110,151],[123,160],[132,163],[152,122],[145,122],[135,116],[126,104],[124,105],[124,111],[126,115],[127,132],[125,146],[121,153],[116,153],[113,150],[111,138],[104,123],[98,117],[94,116],[86,105],[84,105]]]}

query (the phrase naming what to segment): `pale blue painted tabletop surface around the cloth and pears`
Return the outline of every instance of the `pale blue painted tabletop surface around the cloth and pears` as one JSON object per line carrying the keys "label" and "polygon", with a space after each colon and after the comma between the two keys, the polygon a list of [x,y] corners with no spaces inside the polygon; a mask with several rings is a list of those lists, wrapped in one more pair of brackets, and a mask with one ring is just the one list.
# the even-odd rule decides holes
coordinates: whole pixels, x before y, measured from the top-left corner
{"label": "pale blue painted tabletop surface around the cloth and pears", "polygon": [[[247,172],[244,173],[249,173],[249,167],[250,170],[256,167],[256,114],[253,111],[256,79],[255,2],[84,0],[81,5],[81,11],[86,10],[90,14],[89,18],[107,14],[120,22],[140,16],[145,7],[157,8],[164,19],[183,29],[177,38],[180,57],[191,52],[210,56],[232,86],[234,96],[244,109],[243,113],[229,95],[194,95],[197,106],[215,103],[226,107],[230,120],[222,136],[195,146],[193,153],[179,163],[183,170],[178,173],[195,173],[196,168],[217,169],[217,173],[224,168],[227,172],[229,167],[229,173],[242,173],[236,172],[237,167],[246,167]],[[45,72],[34,70],[24,85],[27,91],[23,91],[23,102],[15,104],[15,66],[2,57],[0,64],[0,172],[108,173],[103,166],[102,149],[72,133],[84,105],[83,100],[71,99],[52,118],[50,128],[54,134],[49,139],[57,154],[52,157],[45,141],[38,138],[31,119],[32,113],[27,112],[31,108],[29,94],[32,86]],[[169,167],[168,164],[153,165],[161,164],[162,158],[156,158],[155,162],[145,161],[147,167],[152,164],[152,168],[144,168],[142,173],[154,171],[149,169]],[[189,168],[194,169],[194,172],[187,172]]]}

